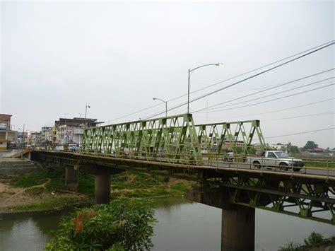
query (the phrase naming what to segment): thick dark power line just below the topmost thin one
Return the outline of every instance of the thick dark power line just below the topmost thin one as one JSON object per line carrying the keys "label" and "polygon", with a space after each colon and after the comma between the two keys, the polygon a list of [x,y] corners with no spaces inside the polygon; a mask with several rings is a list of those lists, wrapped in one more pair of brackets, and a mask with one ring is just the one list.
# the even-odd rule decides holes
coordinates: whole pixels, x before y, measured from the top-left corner
{"label": "thick dark power line just below the topmost thin one", "polygon": [[[265,73],[268,72],[268,71],[272,71],[272,70],[274,70],[274,69],[276,69],[276,68],[278,68],[278,67],[280,67],[280,66],[283,66],[283,65],[288,64],[288,63],[290,63],[290,62],[293,62],[293,61],[295,61],[295,60],[301,59],[302,57],[307,57],[308,55],[310,55],[310,54],[312,54],[312,53],[315,53],[315,52],[318,52],[318,51],[321,50],[321,49],[325,49],[325,48],[327,48],[327,47],[329,47],[329,46],[331,46],[331,45],[334,45],[334,42],[331,42],[331,44],[329,44],[329,45],[325,45],[325,46],[323,46],[323,47],[320,47],[319,49],[312,50],[312,52],[308,52],[308,53],[302,54],[301,56],[299,56],[299,57],[295,57],[294,59],[290,59],[289,61],[284,62],[284,63],[282,63],[282,64],[278,64],[277,66],[271,67],[270,69],[267,69],[267,70],[265,70],[265,71],[261,71],[261,72],[259,72],[258,74],[254,74],[254,75],[249,76],[249,77],[247,77],[247,78],[244,78],[244,79],[242,79],[242,80],[240,80],[240,81],[237,81],[237,82],[235,82],[235,83],[232,83],[232,84],[230,84],[230,85],[228,85],[228,86],[225,86],[225,87],[223,87],[223,88],[219,88],[219,89],[216,90],[216,91],[212,91],[211,93],[206,93],[205,95],[202,95],[202,96],[200,96],[200,97],[198,97],[198,98],[194,98],[193,100],[190,100],[189,103],[192,103],[192,102],[194,102],[194,101],[196,101],[196,100],[200,100],[201,98],[206,98],[208,95],[213,95],[214,93],[218,93],[219,91],[222,91],[222,90],[224,90],[224,89],[226,89],[226,88],[230,88],[230,87],[232,87],[232,86],[235,86],[235,85],[237,85],[238,83],[242,83],[242,82],[247,81],[247,80],[249,80],[249,79],[251,79],[251,78],[255,78],[256,76],[259,76],[259,75],[261,75],[261,74],[265,74]],[[182,107],[183,105],[186,105],[186,104],[187,104],[187,103],[182,103],[182,104],[180,104],[180,105],[176,105],[175,107],[172,107],[172,108],[170,108],[170,109],[167,110],[167,111],[175,110],[176,108],[178,108],[178,107]],[[163,112],[159,112],[159,113],[157,113],[157,114],[155,114],[155,115],[151,115],[151,116],[149,116],[149,117],[146,117],[146,119],[151,118],[151,117],[155,117],[155,116],[157,116],[157,115],[161,115],[161,114],[163,114],[164,112],[165,112],[165,111],[163,111]]]}

